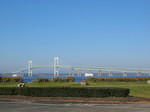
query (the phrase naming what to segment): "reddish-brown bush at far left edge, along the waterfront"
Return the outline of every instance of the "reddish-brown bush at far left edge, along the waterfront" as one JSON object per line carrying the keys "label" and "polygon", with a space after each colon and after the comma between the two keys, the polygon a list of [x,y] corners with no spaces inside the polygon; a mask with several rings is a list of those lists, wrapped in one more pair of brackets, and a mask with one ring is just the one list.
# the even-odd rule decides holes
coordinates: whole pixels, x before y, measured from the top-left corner
{"label": "reddish-brown bush at far left edge, along the waterfront", "polygon": [[0,82],[23,82],[21,77],[1,77]]}

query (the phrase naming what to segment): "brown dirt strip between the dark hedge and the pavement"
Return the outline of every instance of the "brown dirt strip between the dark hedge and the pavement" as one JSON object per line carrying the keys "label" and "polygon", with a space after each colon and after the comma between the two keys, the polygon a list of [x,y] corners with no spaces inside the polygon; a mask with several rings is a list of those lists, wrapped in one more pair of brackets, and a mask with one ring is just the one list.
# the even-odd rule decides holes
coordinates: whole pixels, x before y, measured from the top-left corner
{"label": "brown dirt strip between the dark hedge and the pavement", "polygon": [[42,101],[42,102],[74,102],[74,103],[132,103],[150,104],[149,98],[137,97],[106,97],[106,98],[81,98],[81,97],[31,97],[31,96],[6,96],[0,95],[0,100],[7,101]]}

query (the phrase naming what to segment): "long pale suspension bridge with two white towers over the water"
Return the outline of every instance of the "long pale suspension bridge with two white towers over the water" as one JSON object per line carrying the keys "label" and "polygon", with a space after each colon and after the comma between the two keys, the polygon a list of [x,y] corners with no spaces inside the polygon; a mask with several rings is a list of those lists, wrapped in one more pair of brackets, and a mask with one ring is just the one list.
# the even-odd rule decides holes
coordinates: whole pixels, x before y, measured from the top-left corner
{"label": "long pale suspension bridge with two white towers over the water", "polygon": [[42,69],[42,68],[51,68],[53,69],[54,77],[59,77],[60,75],[60,69],[70,69],[70,70],[76,70],[76,71],[96,71],[99,75],[102,74],[102,72],[108,72],[109,76],[112,76],[113,72],[121,72],[123,73],[123,76],[127,76],[128,73],[137,73],[137,76],[142,73],[150,73],[150,69],[131,69],[131,68],[113,68],[113,67],[88,67],[88,66],[67,66],[67,65],[61,65],[59,63],[59,57],[54,57],[54,61],[52,65],[33,65],[32,60],[28,61],[27,68],[21,69],[19,71],[16,71],[15,73],[28,73],[29,77],[32,77],[32,72],[35,69]]}

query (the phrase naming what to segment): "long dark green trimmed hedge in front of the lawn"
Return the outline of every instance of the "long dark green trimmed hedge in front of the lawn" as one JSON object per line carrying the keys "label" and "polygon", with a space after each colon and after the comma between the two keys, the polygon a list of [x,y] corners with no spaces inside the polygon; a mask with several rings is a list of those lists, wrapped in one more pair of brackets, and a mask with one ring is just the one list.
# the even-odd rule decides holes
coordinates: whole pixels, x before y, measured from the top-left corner
{"label": "long dark green trimmed hedge in front of the lawn", "polygon": [[0,95],[24,95],[35,97],[127,97],[125,88],[83,88],[83,87],[25,87],[0,88]]}

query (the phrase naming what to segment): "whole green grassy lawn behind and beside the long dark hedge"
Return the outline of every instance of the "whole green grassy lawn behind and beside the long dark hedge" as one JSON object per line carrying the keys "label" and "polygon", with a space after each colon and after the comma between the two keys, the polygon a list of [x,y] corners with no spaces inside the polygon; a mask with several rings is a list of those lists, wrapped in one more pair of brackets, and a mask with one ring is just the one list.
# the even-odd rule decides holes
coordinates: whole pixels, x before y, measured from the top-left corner
{"label": "whole green grassy lawn behind and beside the long dark hedge", "polygon": [[[45,83],[27,83],[26,87],[81,87],[77,82],[45,82]],[[0,83],[0,87],[17,87],[15,82]],[[150,84],[144,81],[139,82],[108,82],[101,81],[96,83],[89,83],[85,87],[121,87],[129,88],[130,96],[150,98]]]}

